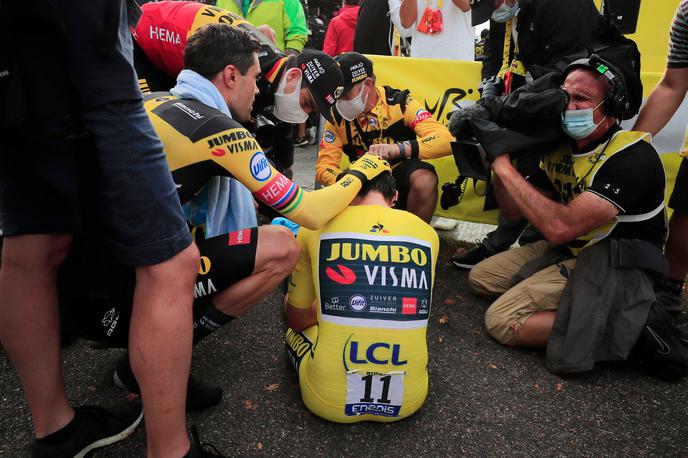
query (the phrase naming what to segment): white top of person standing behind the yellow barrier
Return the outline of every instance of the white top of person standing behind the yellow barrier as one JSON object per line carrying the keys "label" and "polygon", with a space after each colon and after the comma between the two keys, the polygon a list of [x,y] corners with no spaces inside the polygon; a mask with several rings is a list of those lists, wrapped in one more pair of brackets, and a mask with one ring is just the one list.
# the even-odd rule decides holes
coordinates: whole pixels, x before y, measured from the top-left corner
{"label": "white top of person standing behind the yellow barrier", "polygon": [[[439,0],[427,0],[427,6],[437,9]],[[411,27],[411,57],[432,59],[474,60],[475,44],[471,11],[463,12],[452,0],[442,0],[442,31],[428,35],[418,31],[418,21],[425,11],[425,0],[416,0],[418,17]],[[397,13],[398,14],[398,13]]]}

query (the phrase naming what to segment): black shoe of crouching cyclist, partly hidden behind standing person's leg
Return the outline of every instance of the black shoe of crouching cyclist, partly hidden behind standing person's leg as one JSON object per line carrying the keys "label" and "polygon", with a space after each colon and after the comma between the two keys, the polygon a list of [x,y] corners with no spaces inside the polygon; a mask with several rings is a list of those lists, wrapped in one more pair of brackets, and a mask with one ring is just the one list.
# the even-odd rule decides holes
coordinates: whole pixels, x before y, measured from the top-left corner
{"label": "black shoe of crouching cyclist, partly hidden behind standing person's leg", "polygon": [[[117,362],[117,368],[112,374],[115,386],[123,390],[131,391],[132,393],[141,394],[139,384],[134,377],[129,364],[128,355],[124,355]],[[210,385],[209,383],[200,380],[193,375],[189,376],[189,384],[186,389],[186,410],[188,412],[197,412],[199,410],[208,409],[220,402],[222,399],[222,388],[219,386]]]}

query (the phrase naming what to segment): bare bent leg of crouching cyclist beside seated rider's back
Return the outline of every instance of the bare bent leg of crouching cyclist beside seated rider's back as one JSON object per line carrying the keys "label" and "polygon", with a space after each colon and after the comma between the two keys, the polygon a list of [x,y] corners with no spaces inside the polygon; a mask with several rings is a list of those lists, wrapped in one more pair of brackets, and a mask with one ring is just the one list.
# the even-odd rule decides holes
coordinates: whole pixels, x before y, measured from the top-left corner
{"label": "bare bent leg of crouching cyclist beside seated rider's back", "polygon": [[244,314],[291,273],[298,257],[299,244],[289,229],[259,227],[253,273],[213,296],[213,305],[233,317]]}

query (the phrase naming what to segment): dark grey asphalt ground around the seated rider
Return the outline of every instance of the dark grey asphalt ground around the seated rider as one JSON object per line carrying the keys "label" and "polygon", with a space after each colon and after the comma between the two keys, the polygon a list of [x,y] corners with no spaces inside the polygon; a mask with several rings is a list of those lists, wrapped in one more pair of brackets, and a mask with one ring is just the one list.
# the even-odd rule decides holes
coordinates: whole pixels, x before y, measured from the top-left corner
{"label": "dark grey asphalt ground around the seated rider", "polygon": [[[428,328],[430,392],[412,417],[338,425],[309,413],[287,362],[274,293],[195,349],[193,373],[225,395],[189,424],[228,456],[688,456],[688,382],[661,382],[624,364],[575,377],[549,373],[542,352],[488,336],[488,303],[468,291],[449,251],[438,261]],[[126,402],[109,382],[120,354],[83,342],[65,350],[75,405]],[[0,390],[0,456],[28,456],[29,411],[4,353]],[[144,428],[93,456],[145,456]]]}

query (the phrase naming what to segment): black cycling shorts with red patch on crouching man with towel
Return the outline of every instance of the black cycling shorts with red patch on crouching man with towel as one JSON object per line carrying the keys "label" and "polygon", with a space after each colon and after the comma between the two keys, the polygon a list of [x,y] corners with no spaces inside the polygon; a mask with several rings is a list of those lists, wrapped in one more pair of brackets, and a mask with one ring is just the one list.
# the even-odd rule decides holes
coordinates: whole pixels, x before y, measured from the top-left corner
{"label": "black cycling shorts with red patch on crouching man with towel", "polygon": [[[258,228],[197,241],[201,266],[194,307],[253,273]],[[129,336],[136,274],[114,259],[95,238],[77,238],[60,269],[58,293],[67,334],[125,348]]]}

